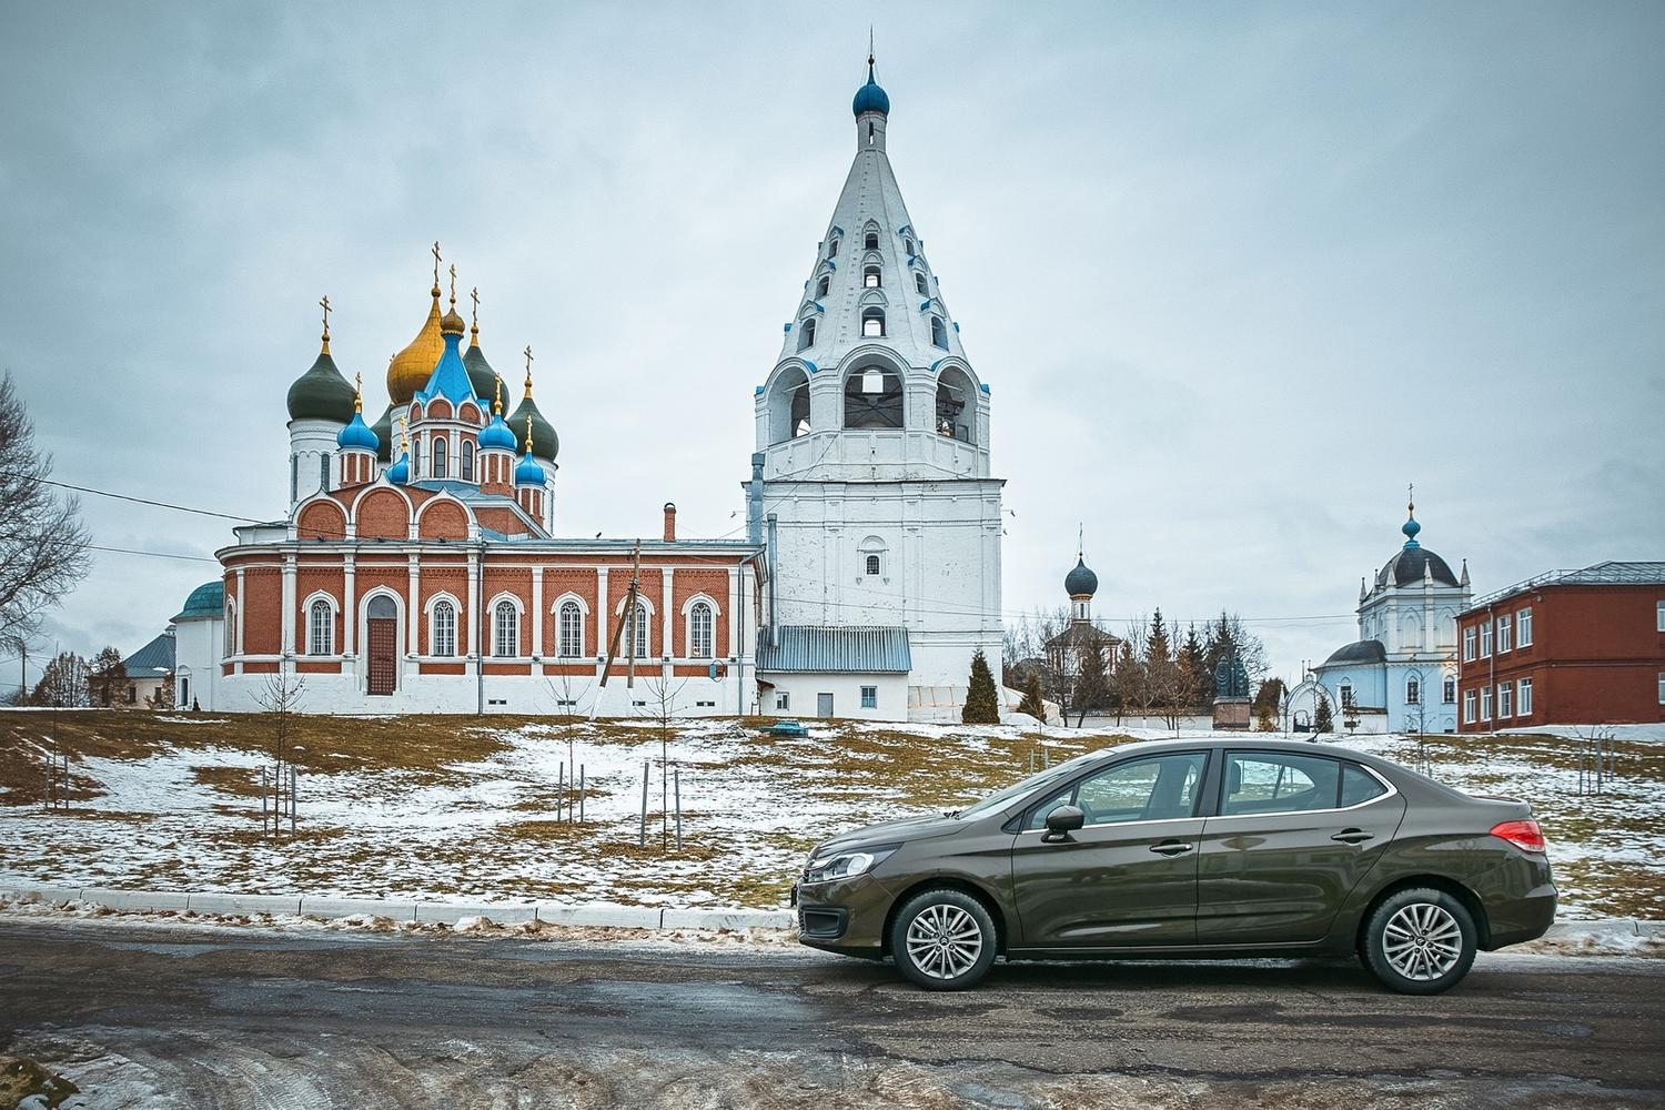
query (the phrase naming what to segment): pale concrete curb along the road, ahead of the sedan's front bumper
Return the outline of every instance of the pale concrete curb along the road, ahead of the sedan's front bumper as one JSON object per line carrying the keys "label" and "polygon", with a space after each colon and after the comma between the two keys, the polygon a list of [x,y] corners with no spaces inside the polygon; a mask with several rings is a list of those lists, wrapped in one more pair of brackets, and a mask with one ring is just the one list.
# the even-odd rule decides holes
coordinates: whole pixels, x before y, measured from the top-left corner
{"label": "pale concrete curb along the road, ahead of the sedan's front bumper", "polygon": [[50,905],[102,905],[122,914],[181,912],[221,915],[296,915],[336,920],[341,917],[386,917],[396,922],[456,925],[471,917],[485,917],[496,925],[581,925],[591,929],[791,929],[791,910],[713,909],[683,910],[651,905],[618,905],[589,902],[413,902],[393,899],[315,899],[273,894],[185,894],[173,890],[117,890],[110,887],[13,887],[0,889],[0,899],[37,900]]}

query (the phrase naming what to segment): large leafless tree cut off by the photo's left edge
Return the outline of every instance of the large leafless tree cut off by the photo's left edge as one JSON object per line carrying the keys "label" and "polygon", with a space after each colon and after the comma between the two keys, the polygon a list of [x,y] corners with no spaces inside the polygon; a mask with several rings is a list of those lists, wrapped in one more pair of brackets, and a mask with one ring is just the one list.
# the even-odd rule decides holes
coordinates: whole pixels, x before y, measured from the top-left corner
{"label": "large leafless tree cut off by the photo's left edge", "polygon": [[27,639],[40,614],[87,576],[87,529],[75,498],[50,484],[52,456],[10,371],[0,376],[0,634]]}

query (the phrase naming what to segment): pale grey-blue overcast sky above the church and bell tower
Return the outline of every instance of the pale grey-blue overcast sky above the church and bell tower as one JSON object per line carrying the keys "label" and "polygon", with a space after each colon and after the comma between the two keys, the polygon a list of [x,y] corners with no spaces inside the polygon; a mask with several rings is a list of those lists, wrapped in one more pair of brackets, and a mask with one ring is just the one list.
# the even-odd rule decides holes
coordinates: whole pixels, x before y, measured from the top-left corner
{"label": "pale grey-blue overcast sky above the church and bell tower", "polygon": [[[1665,557],[1665,5],[554,8],[0,5],[0,364],[57,476],[281,516],[318,296],[380,414],[440,240],[498,371],[538,353],[559,531],[729,533],[871,20],[1006,611],[1064,601],[1081,523],[1101,617],[1230,607],[1292,676],[1412,481],[1477,592]],[[38,646],[130,652],[213,576],[98,554]]]}

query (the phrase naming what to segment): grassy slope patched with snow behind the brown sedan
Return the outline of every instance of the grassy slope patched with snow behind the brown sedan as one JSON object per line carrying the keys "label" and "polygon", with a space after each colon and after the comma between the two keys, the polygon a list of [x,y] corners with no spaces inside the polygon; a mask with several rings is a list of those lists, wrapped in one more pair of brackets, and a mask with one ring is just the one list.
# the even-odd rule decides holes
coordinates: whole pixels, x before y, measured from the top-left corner
{"label": "grassy slope patched with snow behind the brown sedan", "polygon": [[[153,726],[165,734],[130,741],[123,721],[132,717],[85,714],[65,729],[77,787],[68,810],[38,805],[38,779],[28,789],[35,764],[25,759],[28,776],[12,774],[0,794],[0,887],[769,907],[784,900],[804,854],[834,832],[957,809],[1042,759],[1174,736],[837,722],[779,739],[734,719],[676,722],[664,756],[681,772],[678,850],[674,829],[671,845],[661,842],[661,737],[648,721],[450,719],[456,759],[431,721],[303,721],[293,837],[260,830],[260,767],[270,757],[250,719],[178,716]],[[0,721],[20,746],[43,744],[45,722]],[[361,744],[355,729],[390,731],[393,741]],[[1342,742],[1419,762],[1407,737]],[[1545,734],[1444,736],[1429,737],[1422,754],[1442,782],[1532,802],[1563,919],[1665,919],[1665,744],[1622,737],[1618,774],[1600,795],[1578,794],[1577,749],[1577,739]],[[566,819],[571,792],[559,789],[569,761],[584,769],[583,824]]]}

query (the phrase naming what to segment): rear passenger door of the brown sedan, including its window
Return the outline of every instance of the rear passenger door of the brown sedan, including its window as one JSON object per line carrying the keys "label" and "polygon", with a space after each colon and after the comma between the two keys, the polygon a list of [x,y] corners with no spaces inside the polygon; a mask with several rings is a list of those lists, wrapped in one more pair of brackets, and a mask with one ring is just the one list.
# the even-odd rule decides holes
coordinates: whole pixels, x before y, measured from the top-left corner
{"label": "rear passenger door of the brown sedan, including its window", "polygon": [[1399,832],[1405,799],[1362,764],[1229,749],[1197,852],[1197,940],[1322,940]]}

